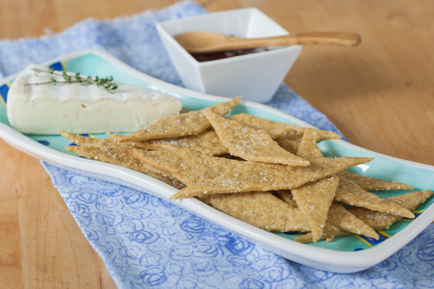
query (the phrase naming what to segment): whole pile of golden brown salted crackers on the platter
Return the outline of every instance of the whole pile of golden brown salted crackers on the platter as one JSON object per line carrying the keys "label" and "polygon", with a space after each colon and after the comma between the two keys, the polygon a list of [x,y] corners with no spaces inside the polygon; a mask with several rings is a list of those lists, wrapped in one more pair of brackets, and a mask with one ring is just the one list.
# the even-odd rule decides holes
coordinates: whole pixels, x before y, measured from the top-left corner
{"label": "whole pile of golden brown salted crackers on the platter", "polygon": [[369,157],[324,157],[317,142],[330,131],[275,123],[244,113],[225,117],[240,98],[165,117],[129,135],[97,139],[61,132],[78,144],[66,149],[93,160],[146,173],[258,228],[306,232],[299,242],[339,236],[378,239],[376,231],[413,219],[432,191],[380,198],[369,191],[410,185],[344,170]]}

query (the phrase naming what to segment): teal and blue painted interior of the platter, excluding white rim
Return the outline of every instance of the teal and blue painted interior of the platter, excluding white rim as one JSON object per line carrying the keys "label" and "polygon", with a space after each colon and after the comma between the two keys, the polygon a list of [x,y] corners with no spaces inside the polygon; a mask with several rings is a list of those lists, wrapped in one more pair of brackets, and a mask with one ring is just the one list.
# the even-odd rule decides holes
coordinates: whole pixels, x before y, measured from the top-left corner
{"label": "teal and blue painted interior of the platter, excluding white rim", "polygon": [[[184,108],[188,110],[196,110],[201,109],[203,107],[208,107],[216,104],[215,101],[204,100],[192,98],[186,95],[181,95],[178,93],[173,93],[171,91],[167,91],[165,89],[159,89],[151,83],[146,82],[143,79],[137,78],[131,74],[129,74],[125,70],[119,69],[117,66],[112,64],[111,62],[105,60],[99,55],[89,53],[78,58],[69,60],[69,61],[61,61],[52,63],[51,67],[55,70],[62,70],[66,68],[71,72],[80,72],[84,75],[98,75],[99,77],[106,77],[112,75],[116,82],[118,83],[130,83],[137,85],[139,87],[143,87],[149,90],[158,90],[179,98],[183,104]],[[9,126],[9,122],[6,116],[6,108],[5,104],[7,103],[7,91],[11,83],[0,84],[0,122]],[[250,115],[256,117],[267,118],[276,122],[283,123],[293,123],[289,121],[285,117],[280,117],[275,114],[272,114],[266,110],[256,108],[256,107],[246,107],[246,106],[238,106],[234,109],[232,114],[237,113],[249,113]],[[40,144],[47,145],[48,147],[60,151],[65,154],[72,154],[64,149],[65,146],[71,144],[70,141],[61,137],[61,135],[26,135],[33,139],[35,142],[39,142]],[[107,137],[106,135],[90,135],[92,137]],[[325,156],[372,156],[370,154],[366,154],[361,150],[349,148],[342,144],[336,144],[332,141],[322,141],[319,143],[319,146]],[[434,172],[428,169],[422,169],[419,167],[415,167],[409,164],[397,162],[388,158],[375,156],[375,159],[371,163],[363,164],[357,167],[354,167],[349,170],[350,172],[357,172],[361,175],[371,176],[375,178],[380,178],[387,181],[396,181],[396,182],[404,182],[407,184],[411,184],[414,186],[414,191],[422,191],[422,190],[433,190],[434,189]],[[406,193],[410,191],[382,191],[382,192],[374,192],[377,193],[381,197],[390,197],[398,194]],[[415,215],[420,216],[424,210],[426,210],[429,205],[433,202],[433,197],[427,200],[424,204],[420,205],[419,208],[415,211]],[[370,247],[374,247],[377,244],[386,241],[391,238],[394,234],[401,231],[401,229],[405,228],[410,224],[411,219],[402,219],[400,222],[395,223],[390,229],[384,230],[380,232],[380,239],[374,240],[371,238],[364,238],[359,236],[346,236],[341,238],[336,238],[333,242],[325,242],[319,241],[317,243],[308,244],[307,246],[315,246],[315,247],[324,247],[330,248],[339,251],[356,251],[361,249],[367,249]],[[279,236],[283,238],[294,239],[299,234],[292,233],[278,233]],[[391,240],[392,241],[392,240]]]}

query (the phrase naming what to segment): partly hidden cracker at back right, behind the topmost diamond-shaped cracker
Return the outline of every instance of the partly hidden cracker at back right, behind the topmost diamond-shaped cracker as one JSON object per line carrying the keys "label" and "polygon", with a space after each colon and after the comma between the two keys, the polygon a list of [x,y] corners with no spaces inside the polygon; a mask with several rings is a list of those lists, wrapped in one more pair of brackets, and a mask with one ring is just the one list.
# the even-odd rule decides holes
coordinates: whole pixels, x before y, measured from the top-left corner
{"label": "partly hidden cracker at back right, behind the topmost diamond-shaped cracker", "polygon": [[303,126],[294,126],[284,123],[276,123],[268,119],[253,117],[245,113],[233,115],[228,118],[236,120],[246,126],[265,130],[267,134],[269,134],[272,138],[278,138],[280,136],[287,135],[295,137],[295,139],[299,139],[307,130],[312,131],[312,133],[316,137],[316,141],[320,141],[323,139],[341,138],[341,135],[337,135],[334,132]]}

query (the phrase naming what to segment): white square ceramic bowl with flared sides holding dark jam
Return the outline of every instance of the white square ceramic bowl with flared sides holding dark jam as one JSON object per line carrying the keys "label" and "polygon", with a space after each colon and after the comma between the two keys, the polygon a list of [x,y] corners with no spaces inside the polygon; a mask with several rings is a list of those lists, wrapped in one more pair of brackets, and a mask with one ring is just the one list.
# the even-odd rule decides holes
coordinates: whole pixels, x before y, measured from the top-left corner
{"label": "white square ceramic bowl with flared sides holding dark jam", "polygon": [[264,103],[269,101],[297,60],[300,45],[269,48],[217,61],[196,61],[174,36],[210,32],[244,38],[286,35],[288,32],[256,8],[244,8],[157,23],[165,49],[187,89]]}

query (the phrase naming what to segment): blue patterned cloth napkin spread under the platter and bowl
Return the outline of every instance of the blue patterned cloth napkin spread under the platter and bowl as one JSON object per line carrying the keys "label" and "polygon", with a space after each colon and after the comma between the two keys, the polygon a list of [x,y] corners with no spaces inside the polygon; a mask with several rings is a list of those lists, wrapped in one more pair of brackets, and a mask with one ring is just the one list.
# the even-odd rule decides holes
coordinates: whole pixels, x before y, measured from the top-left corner
{"label": "blue patterned cloth napkin spread under the platter and bowl", "polygon": [[[63,33],[0,41],[0,79],[81,49],[109,51],[158,79],[182,85],[155,24],[204,14],[181,2],[110,21],[87,20]],[[328,119],[282,84],[267,104],[322,129]],[[434,225],[362,273],[341,275],[283,259],[147,191],[42,163],[118,288],[433,288]]]}

